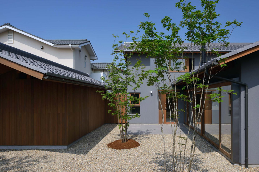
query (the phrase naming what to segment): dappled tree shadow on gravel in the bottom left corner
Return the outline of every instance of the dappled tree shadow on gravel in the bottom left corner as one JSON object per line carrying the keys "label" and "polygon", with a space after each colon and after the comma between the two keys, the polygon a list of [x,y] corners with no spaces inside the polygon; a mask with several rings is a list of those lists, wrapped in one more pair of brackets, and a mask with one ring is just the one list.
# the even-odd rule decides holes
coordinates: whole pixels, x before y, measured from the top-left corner
{"label": "dappled tree shadow on gravel in the bottom left corner", "polygon": [[[4,151],[0,151],[4,152]],[[0,156],[0,171],[11,171],[18,170],[24,171],[24,168],[30,168],[30,166],[34,166],[39,164],[41,161],[48,158],[47,156],[35,157],[35,156],[24,156],[24,157],[12,157],[7,158],[5,155]],[[51,162],[48,160],[47,162]]]}

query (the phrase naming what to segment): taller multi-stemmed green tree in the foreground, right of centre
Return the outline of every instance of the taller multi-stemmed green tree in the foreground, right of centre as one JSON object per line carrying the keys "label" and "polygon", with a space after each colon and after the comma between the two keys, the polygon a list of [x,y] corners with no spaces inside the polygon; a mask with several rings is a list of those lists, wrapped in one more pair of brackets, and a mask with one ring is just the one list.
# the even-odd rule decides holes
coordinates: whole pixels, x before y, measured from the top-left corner
{"label": "taller multi-stemmed green tree in the foreground, right of centre", "polygon": [[[183,46],[184,39],[179,36],[179,30],[183,28],[186,29],[185,41],[189,42],[191,45],[191,47],[189,47],[191,49],[191,57],[189,58],[194,57],[192,47],[196,46],[199,48],[199,69],[202,64],[203,45],[206,45],[206,51],[207,54],[209,54],[207,57],[208,60],[219,60],[219,51],[223,47],[228,46],[228,38],[232,31],[241,25],[241,23],[237,20],[234,20],[232,22],[226,22],[224,26],[230,28],[230,30],[227,28],[222,28],[222,24],[216,20],[219,14],[216,13],[215,8],[219,1],[201,0],[200,2],[202,10],[197,10],[196,6],[193,6],[191,2],[186,2],[185,0],[180,0],[177,2],[175,7],[182,11],[183,19],[180,24],[177,25],[172,22],[172,19],[169,16],[165,16],[164,19],[161,20],[163,29],[165,29],[164,32],[157,32],[155,23],[149,20],[150,15],[148,13],[144,13],[144,15],[148,18],[148,21],[140,22],[139,27],[144,31],[144,34],[141,37],[141,41],[139,41],[135,47],[139,53],[146,53],[147,58],[156,57],[154,62],[156,68],[146,72],[148,77],[147,85],[156,86],[157,90],[160,90],[161,94],[167,94],[173,138],[170,143],[170,145],[172,145],[173,171],[191,170],[192,160],[194,158],[196,148],[195,139],[199,127],[199,119],[206,109],[204,106],[205,99],[202,103],[202,99],[197,100],[196,98],[197,90],[199,89],[199,94],[201,94],[201,96],[206,96],[208,83],[213,77],[213,75],[211,75],[211,70],[216,65],[219,65],[212,64],[208,71],[209,76],[199,72],[194,72],[194,65],[192,65],[192,72],[181,75],[180,71],[187,69],[184,60],[188,57],[183,55],[183,51],[187,47]],[[215,42],[220,43],[220,47],[216,50],[211,48]],[[212,49],[211,53],[208,53],[210,49]],[[179,61],[179,58],[182,60]],[[221,59],[221,61],[224,61],[224,59]],[[224,66],[226,66],[226,64],[221,65],[221,67]],[[177,90],[176,83],[178,81],[182,81],[184,83],[183,90],[187,90],[187,95],[183,94],[182,90]],[[221,102],[221,98],[223,97],[222,93],[224,92],[233,94],[233,90],[222,90],[221,88],[218,88],[217,93],[209,96],[210,100]],[[157,94],[159,94],[159,91]],[[181,133],[178,135],[177,133],[177,129],[180,127],[178,121],[179,114],[185,112],[185,109],[177,109],[177,100],[187,102],[192,109],[195,109],[191,111],[191,119],[189,119],[189,130],[187,136],[181,135]],[[163,106],[161,104],[160,97],[159,105],[162,109],[162,119],[164,123],[165,114],[163,113]],[[187,157],[187,138],[190,135],[191,126],[194,128],[194,133],[191,139],[191,148]],[[166,143],[163,135],[163,124],[161,125],[161,132],[164,143],[164,170],[166,171],[167,162],[171,160],[167,160],[166,156]],[[176,149],[176,147],[178,147],[178,149]],[[176,150],[178,150],[178,152]]]}

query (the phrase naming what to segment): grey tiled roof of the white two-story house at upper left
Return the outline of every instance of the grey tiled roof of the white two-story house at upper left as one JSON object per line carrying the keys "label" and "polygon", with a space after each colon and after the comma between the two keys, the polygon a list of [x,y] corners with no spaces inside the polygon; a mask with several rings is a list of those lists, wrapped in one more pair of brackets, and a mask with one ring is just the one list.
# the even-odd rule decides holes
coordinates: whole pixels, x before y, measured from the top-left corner
{"label": "grey tiled roof of the white two-story house at upper left", "polygon": [[24,32],[24,33],[30,34],[30,35],[32,35],[32,36],[34,36],[34,37],[40,38],[40,39],[42,39],[42,40],[44,40],[44,41],[50,42],[50,43],[52,43],[52,44],[56,44],[56,45],[68,45],[68,44],[71,44],[71,45],[80,45],[80,44],[83,44],[83,43],[86,43],[86,42],[90,42],[90,41],[88,41],[87,39],[79,39],[79,40],[69,40],[69,39],[49,40],[49,39],[43,39],[43,38],[38,37],[38,36],[36,36],[36,35],[33,35],[33,34],[31,34],[31,33],[25,32],[24,30],[18,29],[18,28],[16,28],[16,27],[14,27],[13,25],[11,25],[10,23],[5,23],[5,24],[1,25],[0,27],[5,26],[5,25],[6,25],[6,26],[10,26],[10,27],[12,27],[12,28],[14,28],[14,29],[20,30],[20,31],[22,31],[22,32]]}

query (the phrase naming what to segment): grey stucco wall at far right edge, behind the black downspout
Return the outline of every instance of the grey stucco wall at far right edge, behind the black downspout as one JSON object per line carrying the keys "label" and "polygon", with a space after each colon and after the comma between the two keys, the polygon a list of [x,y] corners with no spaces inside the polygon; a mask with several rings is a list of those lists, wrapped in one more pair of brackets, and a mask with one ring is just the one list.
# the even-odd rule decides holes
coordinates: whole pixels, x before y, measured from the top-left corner
{"label": "grey stucco wall at far right edge, behind the black downspout", "polygon": [[[259,53],[255,52],[249,56],[242,57],[241,82],[248,85],[248,158],[249,164],[259,164]],[[247,60],[248,59],[248,60]],[[240,95],[241,119],[240,119],[240,160],[244,164],[244,89]]]}

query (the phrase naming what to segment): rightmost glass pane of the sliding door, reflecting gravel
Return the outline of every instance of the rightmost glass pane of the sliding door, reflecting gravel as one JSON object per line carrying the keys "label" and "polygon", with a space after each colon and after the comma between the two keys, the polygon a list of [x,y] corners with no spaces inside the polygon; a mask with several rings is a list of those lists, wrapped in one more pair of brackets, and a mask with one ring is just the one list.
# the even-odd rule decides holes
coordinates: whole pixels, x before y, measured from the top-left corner
{"label": "rightmost glass pane of the sliding door, reflecting gravel", "polygon": [[[231,86],[223,86],[222,89],[231,90]],[[221,95],[221,148],[231,154],[231,94]]]}

